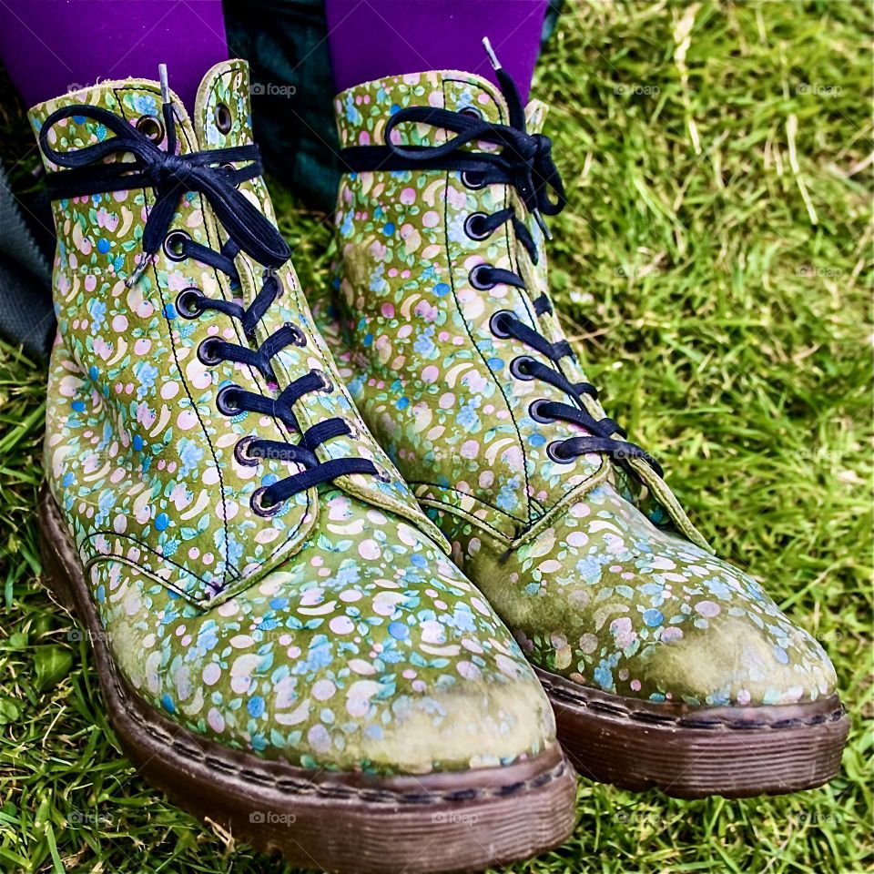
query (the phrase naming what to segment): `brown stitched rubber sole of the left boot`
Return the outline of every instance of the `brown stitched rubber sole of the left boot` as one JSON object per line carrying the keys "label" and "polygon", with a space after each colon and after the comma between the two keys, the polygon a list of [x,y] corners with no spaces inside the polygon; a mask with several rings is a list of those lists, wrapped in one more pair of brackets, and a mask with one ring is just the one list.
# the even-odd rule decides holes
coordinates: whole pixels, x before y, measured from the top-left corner
{"label": "brown stitched rubber sole of the left boot", "polygon": [[86,627],[118,740],[180,808],[292,865],[355,874],[477,871],[528,859],[573,831],[574,769],[557,744],[507,767],[376,777],[269,762],[179,727],[118,674],[47,489],[39,515],[44,579]]}

